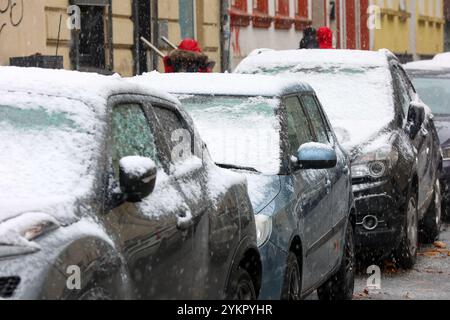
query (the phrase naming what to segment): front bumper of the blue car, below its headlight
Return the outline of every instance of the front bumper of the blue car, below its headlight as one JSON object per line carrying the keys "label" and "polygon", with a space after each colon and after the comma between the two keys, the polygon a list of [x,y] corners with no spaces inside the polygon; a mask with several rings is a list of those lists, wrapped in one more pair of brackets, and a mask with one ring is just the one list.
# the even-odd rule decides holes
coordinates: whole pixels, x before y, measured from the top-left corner
{"label": "front bumper of the blue car, below its headlight", "polygon": [[270,240],[259,248],[262,262],[262,283],[259,300],[281,297],[287,254]]}

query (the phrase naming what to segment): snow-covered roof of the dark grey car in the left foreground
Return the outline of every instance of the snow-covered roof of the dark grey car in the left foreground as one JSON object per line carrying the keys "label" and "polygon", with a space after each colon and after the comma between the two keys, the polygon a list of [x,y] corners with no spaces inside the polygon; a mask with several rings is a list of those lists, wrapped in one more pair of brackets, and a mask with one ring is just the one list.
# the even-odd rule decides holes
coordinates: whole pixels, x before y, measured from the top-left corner
{"label": "snow-covered roof of the dark grey car in the left foreground", "polygon": [[26,92],[65,97],[90,105],[105,104],[117,94],[148,95],[174,104],[178,100],[168,93],[123,80],[118,74],[104,76],[68,70],[0,67],[0,92]]}

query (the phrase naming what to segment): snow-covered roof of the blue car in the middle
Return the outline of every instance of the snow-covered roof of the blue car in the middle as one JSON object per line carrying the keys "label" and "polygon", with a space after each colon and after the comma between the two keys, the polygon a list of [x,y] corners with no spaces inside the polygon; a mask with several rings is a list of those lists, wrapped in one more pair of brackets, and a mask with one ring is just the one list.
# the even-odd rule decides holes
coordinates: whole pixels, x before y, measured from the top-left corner
{"label": "snow-covered roof of the blue car in the middle", "polygon": [[177,94],[281,97],[314,92],[309,84],[296,79],[264,75],[151,72],[130,80]]}

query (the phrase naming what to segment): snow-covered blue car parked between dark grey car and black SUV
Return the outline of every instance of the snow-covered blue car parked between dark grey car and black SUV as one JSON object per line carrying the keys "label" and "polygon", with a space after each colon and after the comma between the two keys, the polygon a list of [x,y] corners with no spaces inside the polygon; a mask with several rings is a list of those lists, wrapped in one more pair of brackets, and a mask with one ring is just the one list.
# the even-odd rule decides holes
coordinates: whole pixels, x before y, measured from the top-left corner
{"label": "snow-covered blue car parked between dark grey car and black SUV", "polygon": [[350,160],[314,91],[233,74],[133,79],[174,93],[213,160],[248,180],[262,259],[260,299],[351,299],[355,216]]}

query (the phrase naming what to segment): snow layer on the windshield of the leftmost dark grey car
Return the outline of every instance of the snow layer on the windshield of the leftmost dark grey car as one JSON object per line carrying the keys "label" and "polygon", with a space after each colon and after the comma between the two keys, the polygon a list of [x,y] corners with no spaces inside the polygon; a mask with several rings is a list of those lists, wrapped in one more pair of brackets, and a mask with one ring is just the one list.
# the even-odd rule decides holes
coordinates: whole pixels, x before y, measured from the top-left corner
{"label": "snow layer on the windshield of the leftmost dark grey car", "polygon": [[86,194],[99,148],[96,123],[94,111],[79,101],[0,96],[0,220]]}

